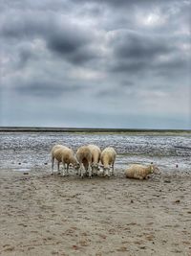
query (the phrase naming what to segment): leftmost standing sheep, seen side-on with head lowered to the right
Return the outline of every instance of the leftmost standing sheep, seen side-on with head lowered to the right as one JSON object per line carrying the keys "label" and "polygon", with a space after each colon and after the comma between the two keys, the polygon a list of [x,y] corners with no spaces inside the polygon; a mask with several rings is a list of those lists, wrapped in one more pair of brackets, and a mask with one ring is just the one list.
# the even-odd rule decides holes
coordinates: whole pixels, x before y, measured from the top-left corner
{"label": "leftmost standing sheep, seen side-on with head lowered to the right", "polygon": [[[78,168],[78,163],[74,157],[74,151],[69,149],[66,146],[62,145],[55,145],[52,149],[52,174],[53,174],[53,162],[54,158],[57,160],[57,172],[59,173],[59,164],[62,162],[63,164],[63,176],[65,175],[65,169],[67,171],[69,170],[69,165],[72,164],[74,166],[74,169]],[[65,167],[65,164],[67,167]]]}

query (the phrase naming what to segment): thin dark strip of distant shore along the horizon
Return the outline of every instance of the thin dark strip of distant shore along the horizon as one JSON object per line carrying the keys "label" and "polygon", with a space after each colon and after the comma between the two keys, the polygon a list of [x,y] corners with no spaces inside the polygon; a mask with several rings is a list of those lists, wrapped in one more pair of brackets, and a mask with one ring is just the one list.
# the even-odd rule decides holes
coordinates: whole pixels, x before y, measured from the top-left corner
{"label": "thin dark strip of distant shore along the horizon", "polygon": [[190,134],[191,129],[151,129],[151,128],[39,128],[39,127],[0,127],[0,132],[87,132],[87,133],[133,133],[153,135]]}

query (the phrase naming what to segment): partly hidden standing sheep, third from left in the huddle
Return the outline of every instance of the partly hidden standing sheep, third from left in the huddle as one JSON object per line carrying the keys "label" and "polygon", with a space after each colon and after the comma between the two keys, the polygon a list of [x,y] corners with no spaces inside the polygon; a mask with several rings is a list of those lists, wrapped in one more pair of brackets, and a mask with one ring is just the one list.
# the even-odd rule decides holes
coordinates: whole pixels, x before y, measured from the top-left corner
{"label": "partly hidden standing sheep, third from left in the huddle", "polygon": [[97,175],[98,163],[100,160],[101,150],[96,145],[93,145],[93,144],[90,144],[87,147],[88,147],[88,149],[90,149],[90,151],[92,153],[92,173],[93,173],[93,175]]}

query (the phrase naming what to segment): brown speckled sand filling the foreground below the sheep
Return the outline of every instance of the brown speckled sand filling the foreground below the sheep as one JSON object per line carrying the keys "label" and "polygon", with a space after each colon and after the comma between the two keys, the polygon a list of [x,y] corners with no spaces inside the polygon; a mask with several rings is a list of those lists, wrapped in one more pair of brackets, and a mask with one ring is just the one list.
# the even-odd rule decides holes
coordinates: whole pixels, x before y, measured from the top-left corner
{"label": "brown speckled sand filling the foreground below the sheep", "polygon": [[[120,172],[118,172],[120,173]],[[191,174],[0,170],[0,255],[191,255]]]}

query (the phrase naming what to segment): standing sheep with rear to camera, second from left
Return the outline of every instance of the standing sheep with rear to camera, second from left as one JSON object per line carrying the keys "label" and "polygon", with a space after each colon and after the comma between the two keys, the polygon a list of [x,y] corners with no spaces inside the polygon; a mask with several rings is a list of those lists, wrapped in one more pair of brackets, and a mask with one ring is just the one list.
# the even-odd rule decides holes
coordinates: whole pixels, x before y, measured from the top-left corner
{"label": "standing sheep with rear to camera, second from left", "polygon": [[80,176],[83,178],[83,169],[89,173],[89,177],[92,178],[92,153],[87,146],[81,146],[76,151],[76,159],[79,162]]}

